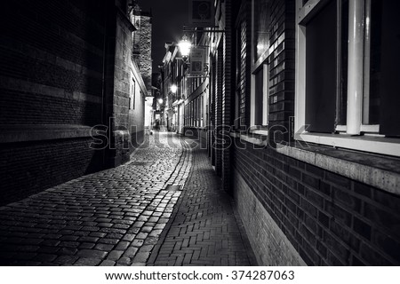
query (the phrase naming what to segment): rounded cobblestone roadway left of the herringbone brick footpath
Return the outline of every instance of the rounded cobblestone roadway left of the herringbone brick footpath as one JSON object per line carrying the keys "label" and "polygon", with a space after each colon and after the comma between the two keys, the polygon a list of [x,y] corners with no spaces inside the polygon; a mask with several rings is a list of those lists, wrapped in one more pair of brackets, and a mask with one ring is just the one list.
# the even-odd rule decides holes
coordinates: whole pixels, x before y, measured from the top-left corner
{"label": "rounded cobblestone roadway left of the herringbone brick footpath", "polygon": [[148,137],[132,161],[0,208],[2,265],[145,265],[185,185],[180,139]]}

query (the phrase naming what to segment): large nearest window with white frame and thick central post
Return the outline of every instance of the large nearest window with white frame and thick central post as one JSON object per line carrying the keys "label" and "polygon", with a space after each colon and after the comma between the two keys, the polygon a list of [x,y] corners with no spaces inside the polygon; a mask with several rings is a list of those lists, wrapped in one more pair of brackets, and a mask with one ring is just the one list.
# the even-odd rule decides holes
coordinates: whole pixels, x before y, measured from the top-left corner
{"label": "large nearest window with white frame and thick central post", "polygon": [[297,0],[297,138],[400,155],[396,0]]}

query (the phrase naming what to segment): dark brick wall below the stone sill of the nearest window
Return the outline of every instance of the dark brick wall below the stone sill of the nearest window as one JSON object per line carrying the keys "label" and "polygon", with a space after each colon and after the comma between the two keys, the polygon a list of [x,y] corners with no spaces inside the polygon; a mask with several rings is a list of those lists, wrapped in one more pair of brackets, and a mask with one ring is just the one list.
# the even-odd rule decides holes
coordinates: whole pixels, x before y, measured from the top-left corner
{"label": "dark brick wall below the stone sill of the nearest window", "polygon": [[[306,264],[400,264],[399,196],[272,148],[245,146],[236,148],[236,172]],[[244,187],[237,184],[236,194]]]}

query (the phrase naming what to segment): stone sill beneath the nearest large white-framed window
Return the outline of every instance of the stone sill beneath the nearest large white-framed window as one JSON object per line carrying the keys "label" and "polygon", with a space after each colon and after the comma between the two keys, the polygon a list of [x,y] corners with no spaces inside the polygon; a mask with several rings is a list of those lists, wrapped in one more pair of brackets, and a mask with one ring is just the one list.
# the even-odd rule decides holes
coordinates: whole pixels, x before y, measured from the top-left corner
{"label": "stone sill beneath the nearest large white-framed window", "polygon": [[400,159],[308,144],[278,145],[276,151],[318,168],[400,195]]}

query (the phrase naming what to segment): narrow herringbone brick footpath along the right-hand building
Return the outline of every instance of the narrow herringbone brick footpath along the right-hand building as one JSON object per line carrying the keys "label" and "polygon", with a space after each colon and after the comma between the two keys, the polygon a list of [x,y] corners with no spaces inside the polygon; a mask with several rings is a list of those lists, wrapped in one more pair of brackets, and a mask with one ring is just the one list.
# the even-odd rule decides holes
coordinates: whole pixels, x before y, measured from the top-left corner
{"label": "narrow herringbone brick footpath along the right-hand building", "polygon": [[232,199],[221,188],[206,151],[193,149],[193,170],[164,240],[149,264],[252,265]]}

